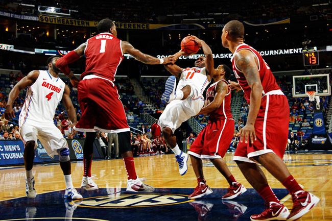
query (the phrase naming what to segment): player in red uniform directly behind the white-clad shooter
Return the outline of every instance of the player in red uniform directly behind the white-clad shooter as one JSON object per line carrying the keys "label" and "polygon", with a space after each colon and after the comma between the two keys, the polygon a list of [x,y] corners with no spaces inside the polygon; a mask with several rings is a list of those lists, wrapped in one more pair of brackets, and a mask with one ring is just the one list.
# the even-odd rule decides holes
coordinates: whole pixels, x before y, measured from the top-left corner
{"label": "player in red uniform directly behind the white-clad shooter", "polygon": [[222,197],[223,200],[234,199],[247,191],[241,183],[236,182],[223,160],[234,133],[234,119],[230,112],[231,93],[227,82],[230,75],[231,70],[226,65],[219,65],[215,69],[211,75],[215,83],[207,89],[205,106],[198,113],[209,114],[210,117],[188,151],[198,183],[189,199],[212,193],[204,179],[202,159],[211,161],[229,183],[230,187]]}

